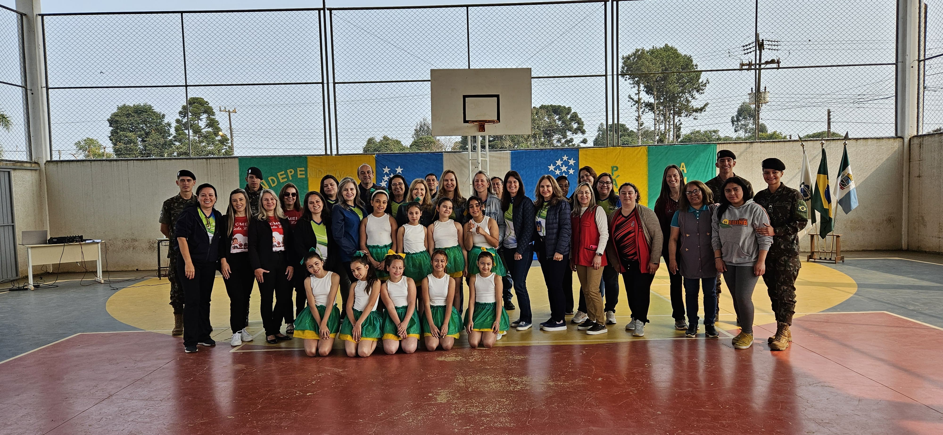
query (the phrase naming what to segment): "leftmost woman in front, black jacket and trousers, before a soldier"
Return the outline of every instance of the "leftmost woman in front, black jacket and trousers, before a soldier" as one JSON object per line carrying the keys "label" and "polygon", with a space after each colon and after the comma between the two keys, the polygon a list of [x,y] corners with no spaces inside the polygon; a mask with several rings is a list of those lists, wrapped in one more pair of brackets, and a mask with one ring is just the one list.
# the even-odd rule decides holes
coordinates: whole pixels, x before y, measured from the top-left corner
{"label": "leftmost woman in front, black jacket and trousers, before a soldier", "polygon": [[216,269],[220,264],[220,239],[223,238],[223,215],[216,205],[216,187],[203,184],[196,188],[195,206],[180,212],[174,225],[174,237],[180,247],[177,254],[177,277],[183,289],[184,351],[196,351],[196,345],[213,346],[210,338],[209,296],[213,292]]}

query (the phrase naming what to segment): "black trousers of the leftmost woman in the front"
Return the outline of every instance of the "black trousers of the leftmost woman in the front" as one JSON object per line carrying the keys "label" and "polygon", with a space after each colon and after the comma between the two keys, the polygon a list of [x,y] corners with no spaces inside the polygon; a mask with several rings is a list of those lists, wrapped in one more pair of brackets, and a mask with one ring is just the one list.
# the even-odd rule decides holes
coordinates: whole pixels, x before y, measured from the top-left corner
{"label": "black trousers of the leftmost woman in the front", "polygon": [[209,297],[216,279],[216,263],[194,264],[193,278],[187,279],[186,262],[177,259],[177,281],[183,290],[183,346],[196,346],[209,338]]}

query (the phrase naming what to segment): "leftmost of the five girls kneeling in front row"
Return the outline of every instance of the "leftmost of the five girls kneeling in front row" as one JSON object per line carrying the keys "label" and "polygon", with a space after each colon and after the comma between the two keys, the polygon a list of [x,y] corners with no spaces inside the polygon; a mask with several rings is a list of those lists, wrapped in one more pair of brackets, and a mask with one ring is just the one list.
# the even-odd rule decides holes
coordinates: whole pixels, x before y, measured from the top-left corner
{"label": "leftmost of the five girls kneeling in front row", "polygon": [[304,266],[311,275],[305,280],[307,306],[295,318],[294,336],[305,339],[307,356],[326,357],[340,330],[340,310],[335,303],[340,276],[326,270],[321,255],[313,250],[305,255]]}

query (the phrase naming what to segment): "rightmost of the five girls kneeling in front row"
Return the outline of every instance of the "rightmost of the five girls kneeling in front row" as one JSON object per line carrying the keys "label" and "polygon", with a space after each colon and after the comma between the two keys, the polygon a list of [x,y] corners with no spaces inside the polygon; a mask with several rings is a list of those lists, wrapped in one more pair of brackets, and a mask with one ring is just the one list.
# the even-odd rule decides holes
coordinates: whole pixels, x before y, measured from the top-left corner
{"label": "rightmost of the five girls kneeling in front row", "polygon": [[483,250],[477,261],[480,272],[469,281],[469,309],[465,312],[465,330],[472,348],[494,346],[510,327],[505,307],[495,303],[495,295],[501,294],[502,284],[501,277],[491,272],[494,255]]}

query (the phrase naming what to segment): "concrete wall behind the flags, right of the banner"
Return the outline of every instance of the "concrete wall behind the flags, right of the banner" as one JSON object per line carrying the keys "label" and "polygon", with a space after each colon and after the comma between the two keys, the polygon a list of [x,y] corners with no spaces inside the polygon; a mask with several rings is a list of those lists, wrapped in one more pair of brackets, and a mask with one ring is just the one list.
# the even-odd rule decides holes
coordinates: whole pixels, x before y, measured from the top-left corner
{"label": "concrete wall behind the flags, right of the banner", "polygon": [[[736,142],[718,144],[718,150],[736,153],[734,172],[750,180],[754,190],[766,188],[763,159],[777,157],[786,164],[783,183],[798,188],[802,169],[799,141]],[[815,177],[819,170],[821,147],[818,140],[805,142],[809,164]],[[838,207],[835,234],[841,234],[842,250],[900,250],[902,231],[902,155],[903,139],[880,137],[849,139],[848,158],[858,192],[858,207],[846,215]],[[842,139],[825,141],[829,179],[835,183],[841,163]],[[810,224],[800,235],[802,250],[809,249]]]}

